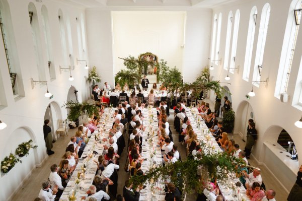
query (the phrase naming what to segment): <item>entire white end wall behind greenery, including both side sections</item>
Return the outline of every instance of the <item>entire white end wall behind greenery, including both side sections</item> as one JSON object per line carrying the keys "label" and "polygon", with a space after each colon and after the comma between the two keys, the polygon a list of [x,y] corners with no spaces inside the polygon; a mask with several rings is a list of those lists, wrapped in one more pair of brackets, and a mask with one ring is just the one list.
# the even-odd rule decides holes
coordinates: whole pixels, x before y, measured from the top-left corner
{"label": "entire white end wall behind greenery, including both side sections", "polygon": [[[111,11],[114,13],[113,20],[116,15],[123,15],[123,17],[127,19],[124,21],[124,23],[126,23],[125,26],[113,24],[113,33]],[[130,12],[130,15],[128,11],[135,12]],[[147,11],[147,13],[143,14],[143,12],[140,11]],[[152,15],[148,16],[149,12],[152,13]],[[125,15],[125,13],[127,13],[127,15]],[[181,20],[185,13],[185,44],[182,49],[183,24]],[[138,14],[142,16],[142,19],[148,20],[154,18],[154,22],[157,23],[156,27],[146,27],[145,20],[134,18]],[[161,18],[161,21],[158,21],[159,16],[155,14],[165,16],[165,18]],[[179,8],[150,8],[147,10],[143,8],[87,9],[86,19],[90,62],[92,65],[97,66],[97,71],[102,76],[102,85],[104,82],[108,82],[109,85],[113,86],[113,74],[121,68],[122,60],[118,59],[118,57],[125,57],[129,54],[136,57],[140,53],[152,50],[153,53],[157,54],[159,59],[163,58],[167,60],[169,66],[173,67],[176,65],[177,68],[181,69],[184,82],[191,82],[198,76],[202,68],[208,64],[211,15],[212,11],[210,9],[198,11]],[[175,18],[175,21],[172,21],[171,17]],[[131,26],[132,21],[135,23],[134,27]],[[172,22],[173,26],[169,27]],[[137,23],[143,23],[143,27],[140,30],[138,30],[136,26]],[[168,23],[167,28],[163,27],[165,23]],[[127,27],[129,27],[128,30]],[[172,30],[178,30],[181,33],[170,34],[171,37],[168,39],[166,38],[168,34],[164,35],[161,29],[169,31],[169,34]],[[139,33],[133,36],[131,35],[133,34],[133,30]],[[119,34],[119,32],[122,31],[122,35]],[[118,33],[118,35],[116,35],[118,38],[113,35],[115,33]],[[134,37],[138,39],[135,41]],[[145,42],[145,37],[153,38],[158,42],[158,45]],[[121,47],[122,42],[123,46]],[[192,72],[194,73],[192,74]]]}

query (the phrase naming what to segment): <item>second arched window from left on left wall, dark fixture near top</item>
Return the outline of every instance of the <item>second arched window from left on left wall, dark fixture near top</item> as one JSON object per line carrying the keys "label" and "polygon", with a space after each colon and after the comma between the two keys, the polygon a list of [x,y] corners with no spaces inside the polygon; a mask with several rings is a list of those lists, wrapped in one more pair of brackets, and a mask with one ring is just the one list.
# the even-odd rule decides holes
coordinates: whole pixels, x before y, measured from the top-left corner
{"label": "second arched window from left on left wall, dark fixture near top", "polygon": [[36,64],[37,64],[37,70],[38,70],[38,77],[40,80],[45,80],[46,63],[45,63],[45,65],[43,64],[43,55],[42,55],[38,15],[37,15],[37,9],[32,2],[29,3],[29,5],[28,5],[28,12],[29,12],[29,21],[28,22],[31,25],[33,45],[34,45]]}

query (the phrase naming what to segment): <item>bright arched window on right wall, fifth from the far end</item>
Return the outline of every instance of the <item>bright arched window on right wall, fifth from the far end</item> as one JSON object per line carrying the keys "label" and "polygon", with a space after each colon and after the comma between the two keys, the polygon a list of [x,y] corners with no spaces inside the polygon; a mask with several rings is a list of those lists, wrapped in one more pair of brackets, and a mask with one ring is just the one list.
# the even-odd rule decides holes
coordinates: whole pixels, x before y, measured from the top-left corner
{"label": "bright arched window on right wall, fifth from the far end", "polygon": [[251,14],[250,14],[246,55],[245,55],[245,60],[244,60],[244,69],[243,69],[243,77],[242,78],[245,81],[249,81],[249,77],[250,77],[250,69],[251,69],[252,53],[253,53],[253,46],[254,46],[256,22],[257,22],[257,7],[254,6],[252,8]]}

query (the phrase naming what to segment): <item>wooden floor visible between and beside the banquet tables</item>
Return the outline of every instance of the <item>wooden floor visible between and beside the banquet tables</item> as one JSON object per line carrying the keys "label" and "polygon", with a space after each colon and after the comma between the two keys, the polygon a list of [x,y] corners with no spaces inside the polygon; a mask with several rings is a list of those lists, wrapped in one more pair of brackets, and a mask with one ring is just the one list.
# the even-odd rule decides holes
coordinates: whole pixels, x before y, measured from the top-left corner
{"label": "wooden floor visible between and beside the banquet tables", "polygon": [[[213,105],[213,104],[211,104]],[[174,120],[174,116],[173,116],[173,111],[170,110],[170,117],[168,119],[168,122],[170,123],[171,126],[171,130],[173,132],[173,139],[174,143],[178,145],[178,149],[179,152],[181,154],[181,158],[184,160],[186,159],[186,149],[184,145],[181,145],[178,142],[178,136],[176,136],[176,132],[174,131],[174,127],[173,127],[173,120]],[[70,129],[68,131],[68,137],[65,139],[63,139],[62,137],[56,141],[54,143],[54,147],[53,147],[53,151],[55,152],[55,154],[49,156],[49,158],[44,162],[44,164],[42,164],[42,167],[36,168],[32,175],[30,176],[30,178],[28,180],[25,181],[23,188],[21,188],[20,190],[17,191],[17,193],[15,194],[15,196],[13,196],[12,200],[14,201],[31,201],[34,200],[35,197],[38,196],[39,191],[41,189],[41,184],[42,181],[45,179],[48,179],[49,173],[50,173],[50,166],[54,163],[58,164],[61,160],[61,157],[63,156],[64,152],[65,152],[65,148],[66,145],[68,144],[70,137],[74,135],[75,131],[77,130],[77,128],[75,129]],[[127,138],[125,138],[127,139]],[[237,135],[230,135],[230,139],[234,139],[235,142],[237,144],[240,145],[240,148],[243,150],[245,147],[245,143],[242,141],[240,136]],[[122,188],[124,186],[124,182],[128,177],[128,173],[126,173],[124,171],[124,166],[125,166],[125,162],[126,162],[126,151],[124,149],[124,152],[121,154],[121,160],[120,160],[120,170],[118,172],[118,194],[122,194]],[[252,166],[256,166],[255,162],[252,159],[249,159],[249,163]],[[279,201],[284,201],[287,198],[286,193],[284,193],[283,188],[278,185],[278,182],[274,179],[274,177],[270,174],[270,172],[268,172],[264,167],[259,166],[259,168],[262,170],[261,171],[261,176],[263,178],[263,181],[265,182],[266,185],[266,189],[274,189],[276,191],[276,200]],[[186,201],[195,201],[196,200],[196,194],[190,194],[187,196]]]}

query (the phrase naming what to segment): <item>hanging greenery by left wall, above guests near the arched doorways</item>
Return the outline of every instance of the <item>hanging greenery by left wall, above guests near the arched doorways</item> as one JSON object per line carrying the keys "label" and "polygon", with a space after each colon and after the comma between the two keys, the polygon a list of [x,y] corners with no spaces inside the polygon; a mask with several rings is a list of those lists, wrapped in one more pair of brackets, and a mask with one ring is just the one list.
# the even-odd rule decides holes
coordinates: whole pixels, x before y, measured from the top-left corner
{"label": "hanging greenery by left wall, above guests near the arched doorways", "polygon": [[79,119],[79,117],[83,115],[99,117],[99,107],[90,105],[88,102],[78,103],[75,101],[67,101],[62,107],[69,109],[67,118],[72,121]]}

